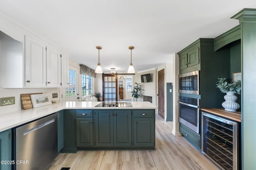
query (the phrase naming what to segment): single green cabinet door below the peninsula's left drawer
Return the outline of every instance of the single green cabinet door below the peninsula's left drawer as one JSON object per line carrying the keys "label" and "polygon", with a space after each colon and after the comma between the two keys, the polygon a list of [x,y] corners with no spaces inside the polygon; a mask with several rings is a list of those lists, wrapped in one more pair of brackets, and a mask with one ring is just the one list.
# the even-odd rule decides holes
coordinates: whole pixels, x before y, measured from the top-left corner
{"label": "single green cabinet door below the peninsula's left drawer", "polygon": [[93,146],[93,118],[76,118],[76,146]]}

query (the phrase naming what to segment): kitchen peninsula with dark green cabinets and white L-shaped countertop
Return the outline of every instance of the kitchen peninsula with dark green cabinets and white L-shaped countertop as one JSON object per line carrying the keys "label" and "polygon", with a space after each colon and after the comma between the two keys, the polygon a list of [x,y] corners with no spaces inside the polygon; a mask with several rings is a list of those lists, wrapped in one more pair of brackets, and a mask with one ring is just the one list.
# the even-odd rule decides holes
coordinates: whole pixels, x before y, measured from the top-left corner
{"label": "kitchen peninsula with dark green cabinets and white L-shaped countertop", "polygon": [[[12,133],[16,127],[57,113],[58,153],[75,153],[77,150],[155,149],[157,107],[150,102],[113,103],[118,105],[109,107],[102,102],[63,102],[4,113],[0,115],[0,134],[8,132],[9,137],[14,137]],[[10,138],[8,143],[11,143]],[[10,158],[15,153],[11,144],[8,147],[9,155],[5,158]]]}

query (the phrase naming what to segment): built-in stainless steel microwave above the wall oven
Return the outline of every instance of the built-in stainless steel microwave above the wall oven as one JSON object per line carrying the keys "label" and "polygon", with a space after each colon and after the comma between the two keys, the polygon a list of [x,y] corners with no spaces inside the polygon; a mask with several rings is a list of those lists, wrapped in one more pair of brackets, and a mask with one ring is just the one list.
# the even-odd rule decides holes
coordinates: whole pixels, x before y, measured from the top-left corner
{"label": "built-in stainless steel microwave above the wall oven", "polygon": [[199,70],[179,75],[179,93],[200,94]]}

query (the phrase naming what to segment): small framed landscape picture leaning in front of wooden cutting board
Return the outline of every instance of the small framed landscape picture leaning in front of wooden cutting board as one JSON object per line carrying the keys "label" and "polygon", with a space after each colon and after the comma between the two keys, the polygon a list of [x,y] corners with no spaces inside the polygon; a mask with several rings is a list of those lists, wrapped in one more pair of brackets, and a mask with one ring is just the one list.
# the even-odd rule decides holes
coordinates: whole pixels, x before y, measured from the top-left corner
{"label": "small framed landscape picture leaning in front of wooden cutting board", "polygon": [[50,94],[32,94],[30,95],[33,107],[40,107],[52,104]]}

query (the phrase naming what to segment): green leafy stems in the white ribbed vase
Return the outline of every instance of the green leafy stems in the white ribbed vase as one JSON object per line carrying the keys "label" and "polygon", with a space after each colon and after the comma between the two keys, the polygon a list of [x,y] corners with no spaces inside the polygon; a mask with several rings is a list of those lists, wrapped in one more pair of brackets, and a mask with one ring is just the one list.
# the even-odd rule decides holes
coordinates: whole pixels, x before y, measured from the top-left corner
{"label": "green leafy stems in the white ribbed vase", "polygon": [[219,88],[222,93],[235,92],[241,94],[241,80],[234,83],[228,83],[225,80],[226,78],[218,78],[218,81],[216,82],[216,87]]}

